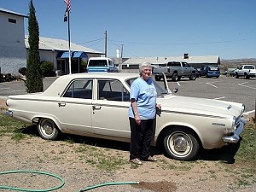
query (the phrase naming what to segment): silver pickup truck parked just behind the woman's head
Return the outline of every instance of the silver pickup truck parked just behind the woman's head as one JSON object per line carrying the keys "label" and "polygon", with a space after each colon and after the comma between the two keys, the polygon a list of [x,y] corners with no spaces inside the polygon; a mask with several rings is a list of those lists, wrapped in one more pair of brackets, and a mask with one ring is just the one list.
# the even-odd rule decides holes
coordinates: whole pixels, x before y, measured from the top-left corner
{"label": "silver pickup truck parked just behind the woman's head", "polygon": [[160,81],[163,78],[162,73],[165,73],[166,78],[172,79],[173,81],[178,81],[181,78],[196,79],[195,68],[191,67],[187,62],[170,61],[164,66],[154,66],[152,73],[156,81]]}

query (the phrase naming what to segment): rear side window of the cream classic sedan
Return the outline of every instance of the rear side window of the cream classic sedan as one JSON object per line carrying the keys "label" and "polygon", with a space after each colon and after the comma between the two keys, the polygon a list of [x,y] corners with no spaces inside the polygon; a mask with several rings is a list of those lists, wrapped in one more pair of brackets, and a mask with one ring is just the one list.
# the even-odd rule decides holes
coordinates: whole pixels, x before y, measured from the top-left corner
{"label": "rear side window of the cream classic sedan", "polygon": [[92,79],[74,80],[63,97],[92,99]]}

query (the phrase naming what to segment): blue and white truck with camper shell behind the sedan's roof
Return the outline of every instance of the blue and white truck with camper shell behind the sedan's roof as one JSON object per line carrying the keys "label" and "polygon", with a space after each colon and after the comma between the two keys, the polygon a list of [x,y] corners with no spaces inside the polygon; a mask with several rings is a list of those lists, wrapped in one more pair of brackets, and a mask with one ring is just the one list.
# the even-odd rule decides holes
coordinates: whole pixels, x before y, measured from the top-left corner
{"label": "blue and white truck with camper shell behind the sedan's roof", "polygon": [[86,72],[119,72],[113,61],[108,57],[90,57]]}

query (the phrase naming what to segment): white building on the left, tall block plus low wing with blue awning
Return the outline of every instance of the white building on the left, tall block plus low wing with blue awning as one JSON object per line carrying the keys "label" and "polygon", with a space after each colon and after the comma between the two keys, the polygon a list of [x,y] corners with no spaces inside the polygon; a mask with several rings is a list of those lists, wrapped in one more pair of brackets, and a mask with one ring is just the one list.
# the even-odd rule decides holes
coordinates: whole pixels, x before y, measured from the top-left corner
{"label": "white building on the left, tall block plus low wing with blue awning", "polygon": [[[29,44],[24,31],[24,18],[28,17],[0,8],[0,73],[19,75],[19,69],[26,67]],[[40,61],[54,63],[55,71],[61,74],[69,73],[68,41],[39,37],[38,47]],[[104,55],[100,51],[79,44],[70,43],[70,49],[73,73],[79,73],[82,59]]]}

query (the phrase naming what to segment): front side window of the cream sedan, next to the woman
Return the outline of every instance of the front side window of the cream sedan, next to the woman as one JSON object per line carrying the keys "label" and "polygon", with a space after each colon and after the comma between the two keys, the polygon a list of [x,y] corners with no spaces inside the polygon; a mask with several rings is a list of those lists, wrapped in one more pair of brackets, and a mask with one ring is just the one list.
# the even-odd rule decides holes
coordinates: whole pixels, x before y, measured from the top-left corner
{"label": "front side window of the cream sedan, next to the woman", "polygon": [[98,100],[129,102],[130,93],[124,85],[116,79],[98,80]]}

